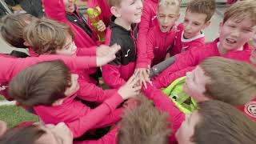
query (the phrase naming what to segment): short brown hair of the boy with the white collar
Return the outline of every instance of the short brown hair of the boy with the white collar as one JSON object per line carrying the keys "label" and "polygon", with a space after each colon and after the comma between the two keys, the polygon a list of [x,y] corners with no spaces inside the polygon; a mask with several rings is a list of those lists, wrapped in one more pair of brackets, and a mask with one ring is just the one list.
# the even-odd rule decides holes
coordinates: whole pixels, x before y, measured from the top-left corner
{"label": "short brown hair of the boy with the white collar", "polygon": [[186,10],[192,13],[206,14],[206,21],[214,15],[216,9],[215,0],[192,0],[188,3]]}

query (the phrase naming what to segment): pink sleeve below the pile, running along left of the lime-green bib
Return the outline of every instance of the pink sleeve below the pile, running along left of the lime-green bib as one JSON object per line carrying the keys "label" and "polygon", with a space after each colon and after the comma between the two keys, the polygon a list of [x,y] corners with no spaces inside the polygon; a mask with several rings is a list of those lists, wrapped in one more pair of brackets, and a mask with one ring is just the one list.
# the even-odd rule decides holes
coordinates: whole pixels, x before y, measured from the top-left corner
{"label": "pink sleeve below the pile, running along left of the lime-green bib", "polygon": [[185,114],[183,114],[181,110],[178,110],[174,102],[172,102],[166,94],[163,94],[161,90],[156,89],[154,86],[148,86],[147,89],[143,87],[142,91],[146,94],[146,97],[153,100],[154,106],[170,115],[169,121],[172,125],[172,132],[175,134],[182,125]]}

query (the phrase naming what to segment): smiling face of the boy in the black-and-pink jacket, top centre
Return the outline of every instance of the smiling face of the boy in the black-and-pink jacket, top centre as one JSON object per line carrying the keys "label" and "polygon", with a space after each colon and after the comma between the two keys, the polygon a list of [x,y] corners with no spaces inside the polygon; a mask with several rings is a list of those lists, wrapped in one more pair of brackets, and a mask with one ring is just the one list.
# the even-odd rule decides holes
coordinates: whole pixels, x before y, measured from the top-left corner
{"label": "smiling face of the boy in the black-and-pink jacket, top centre", "polygon": [[142,0],[122,0],[118,16],[128,23],[139,23],[142,17]]}

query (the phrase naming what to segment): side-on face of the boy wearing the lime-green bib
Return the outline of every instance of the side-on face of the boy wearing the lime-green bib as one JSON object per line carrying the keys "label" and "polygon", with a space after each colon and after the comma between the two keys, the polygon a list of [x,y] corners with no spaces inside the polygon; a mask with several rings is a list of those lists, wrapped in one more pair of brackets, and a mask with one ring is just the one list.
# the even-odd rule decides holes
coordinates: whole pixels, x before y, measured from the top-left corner
{"label": "side-on face of the boy wearing the lime-green bib", "polygon": [[204,74],[200,66],[197,66],[191,72],[186,73],[186,82],[183,85],[183,90],[196,102],[204,102],[209,98],[204,95],[206,84],[210,82],[210,78]]}

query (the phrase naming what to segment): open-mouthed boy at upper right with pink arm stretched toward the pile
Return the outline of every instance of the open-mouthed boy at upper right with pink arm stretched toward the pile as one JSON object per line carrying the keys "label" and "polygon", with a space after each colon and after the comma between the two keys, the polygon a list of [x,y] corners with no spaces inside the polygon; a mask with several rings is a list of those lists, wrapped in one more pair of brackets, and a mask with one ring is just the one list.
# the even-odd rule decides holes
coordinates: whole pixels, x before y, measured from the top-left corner
{"label": "open-mouthed boy at upper right with pink arm stretched toward the pile", "polygon": [[[255,32],[255,6],[256,3],[253,2],[252,4],[246,1],[236,2],[230,6],[224,14],[223,22],[220,23],[219,38],[202,47],[175,55],[174,64],[154,78],[153,84],[158,88],[167,87],[175,80],[174,75],[184,76],[186,71],[192,70],[193,66],[197,66],[205,58],[225,56],[230,51],[250,49],[247,42],[254,36]],[[240,10],[243,11],[242,14]],[[179,70],[182,71],[182,74],[177,74],[180,72]]]}

